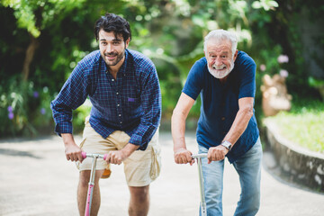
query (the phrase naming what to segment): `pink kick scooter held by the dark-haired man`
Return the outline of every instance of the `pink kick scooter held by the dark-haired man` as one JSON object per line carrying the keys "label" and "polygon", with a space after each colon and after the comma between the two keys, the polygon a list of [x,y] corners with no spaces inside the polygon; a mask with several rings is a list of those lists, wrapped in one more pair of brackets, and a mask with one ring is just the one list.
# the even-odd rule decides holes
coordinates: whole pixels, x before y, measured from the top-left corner
{"label": "pink kick scooter held by the dark-haired man", "polygon": [[95,175],[95,166],[96,166],[96,161],[98,158],[105,158],[107,157],[107,154],[105,155],[99,155],[99,154],[87,154],[85,152],[82,152],[82,157],[85,159],[86,157],[93,157],[93,163],[91,167],[91,174],[90,174],[90,180],[89,180],[89,188],[88,192],[86,195],[86,204],[85,204],[85,216],[90,216],[90,211],[91,211],[91,202],[92,202],[92,197],[93,197],[93,192],[94,192],[94,175]]}

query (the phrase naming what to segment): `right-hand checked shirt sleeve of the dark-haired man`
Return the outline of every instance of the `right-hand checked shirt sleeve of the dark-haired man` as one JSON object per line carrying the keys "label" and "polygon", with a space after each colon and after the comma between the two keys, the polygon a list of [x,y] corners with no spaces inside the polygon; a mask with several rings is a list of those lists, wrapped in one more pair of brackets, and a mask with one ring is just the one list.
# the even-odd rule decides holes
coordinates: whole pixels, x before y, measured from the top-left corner
{"label": "right-hand checked shirt sleeve of the dark-haired man", "polygon": [[139,145],[140,150],[145,150],[148,147],[148,142],[156,133],[161,119],[161,91],[157,70],[154,66],[149,67],[149,70],[148,73],[145,73],[147,76],[140,79],[140,85],[142,85],[140,105],[143,116],[129,141],[131,144]]}

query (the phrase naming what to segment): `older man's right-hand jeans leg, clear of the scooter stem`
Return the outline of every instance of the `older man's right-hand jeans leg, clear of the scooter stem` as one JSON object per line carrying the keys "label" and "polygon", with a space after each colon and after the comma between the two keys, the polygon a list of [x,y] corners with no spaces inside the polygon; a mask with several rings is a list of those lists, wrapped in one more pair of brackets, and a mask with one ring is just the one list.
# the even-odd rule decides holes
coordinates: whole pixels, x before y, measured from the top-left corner
{"label": "older man's right-hand jeans leg, clear of the scooter stem", "polygon": [[235,216],[254,216],[260,207],[262,146],[260,139],[233,163],[239,175],[241,194]]}

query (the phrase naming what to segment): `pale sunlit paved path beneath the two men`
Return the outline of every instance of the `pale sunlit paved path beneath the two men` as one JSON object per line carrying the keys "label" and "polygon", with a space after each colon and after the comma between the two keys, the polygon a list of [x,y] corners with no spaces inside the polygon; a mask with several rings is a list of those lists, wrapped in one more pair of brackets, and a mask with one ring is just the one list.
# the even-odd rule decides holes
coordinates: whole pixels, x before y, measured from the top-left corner
{"label": "pale sunlit paved path beneath the two men", "polygon": [[[80,141],[80,137],[76,137]],[[150,185],[150,216],[196,216],[199,185],[196,164],[175,165],[169,133],[160,134],[162,171]],[[188,148],[196,152],[193,134]],[[266,158],[266,157],[264,157]],[[77,215],[78,172],[66,160],[56,136],[44,139],[0,140],[0,215]],[[223,210],[233,215],[238,202],[238,175],[225,164]],[[99,215],[127,215],[129,192],[122,166],[112,166],[112,177],[101,180],[102,207]],[[324,215],[324,195],[284,184],[263,169],[261,216]]]}

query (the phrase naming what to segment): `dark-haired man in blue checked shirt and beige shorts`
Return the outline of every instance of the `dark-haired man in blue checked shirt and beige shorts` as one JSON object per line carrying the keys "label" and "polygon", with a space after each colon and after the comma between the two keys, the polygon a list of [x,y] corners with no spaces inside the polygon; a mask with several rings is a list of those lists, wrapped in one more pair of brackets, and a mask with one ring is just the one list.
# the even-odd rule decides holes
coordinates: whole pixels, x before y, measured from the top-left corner
{"label": "dark-haired man in blue checked shirt and beige shorts", "polygon": [[[63,138],[67,160],[76,161],[80,170],[77,202],[85,214],[91,158],[81,152],[106,154],[96,166],[91,215],[100,206],[99,179],[109,164],[124,164],[130,189],[130,215],[147,215],[149,184],[160,168],[158,126],[161,93],[157,70],[151,60],[127,49],[130,24],[115,14],[105,14],[94,25],[99,49],[85,56],[63,85],[51,109],[55,131]],[[89,97],[93,104],[85,119],[83,141],[76,145],[72,135],[72,110]],[[81,163],[82,162],[82,163]]]}

